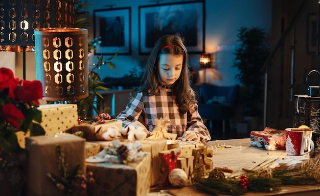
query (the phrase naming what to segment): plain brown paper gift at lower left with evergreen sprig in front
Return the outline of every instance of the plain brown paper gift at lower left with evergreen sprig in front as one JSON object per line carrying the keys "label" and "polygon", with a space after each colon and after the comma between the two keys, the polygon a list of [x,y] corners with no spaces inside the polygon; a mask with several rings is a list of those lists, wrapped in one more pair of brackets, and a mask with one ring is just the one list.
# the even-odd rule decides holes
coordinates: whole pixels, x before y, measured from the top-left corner
{"label": "plain brown paper gift at lower left with evergreen sprig in front", "polygon": [[64,195],[56,184],[46,176],[47,173],[52,173],[52,175],[61,177],[56,153],[58,145],[63,148],[67,171],[71,173],[80,164],[82,173],[86,173],[85,139],[71,134],[28,137],[26,138],[26,148],[29,151],[28,195]]}

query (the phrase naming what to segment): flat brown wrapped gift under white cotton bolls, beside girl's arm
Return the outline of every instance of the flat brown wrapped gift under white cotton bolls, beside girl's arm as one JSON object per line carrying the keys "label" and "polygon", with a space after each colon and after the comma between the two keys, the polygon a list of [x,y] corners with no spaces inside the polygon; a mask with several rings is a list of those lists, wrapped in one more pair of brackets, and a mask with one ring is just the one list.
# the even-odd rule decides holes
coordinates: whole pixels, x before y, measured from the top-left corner
{"label": "flat brown wrapped gift under white cotton bolls, beside girl's arm", "polygon": [[119,130],[122,129],[122,122],[116,121],[115,119],[106,120],[103,124],[95,123],[81,123],[77,126],[73,126],[66,130],[67,133],[83,132],[83,137],[86,140],[104,140],[102,135],[108,130],[110,126],[116,126]]}

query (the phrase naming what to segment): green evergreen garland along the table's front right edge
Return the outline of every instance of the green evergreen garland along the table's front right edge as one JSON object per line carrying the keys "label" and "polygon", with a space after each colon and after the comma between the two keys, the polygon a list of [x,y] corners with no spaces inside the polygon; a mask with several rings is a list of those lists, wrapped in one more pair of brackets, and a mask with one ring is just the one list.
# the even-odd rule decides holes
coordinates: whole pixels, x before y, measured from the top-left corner
{"label": "green evergreen garland along the table's front right edge", "polygon": [[[317,159],[317,158],[313,158]],[[310,160],[310,163],[313,160]],[[269,162],[266,160],[265,162]],[[317,164],[319,161],[317,161]],[[269,162],[271,163],[271,162]],[[259,164],[260,165],[260,164]],[[227,195],[243,195],[246,192],[276,192],[281,190],[284,185],[316,185],[319,184],[320,169],[318,165],[311,167],[310,165],[302,165],[301,167],[275,167],[257,166],[252,171],[245,174],[248,184],[246,188],[240,183],[241,177],[232,176],[225,177],[222,171],[213,169],[211,172],[203,173],[195,170],[192,183],[199,190],[208,192],[211,195],[227,194]],[[221,174],[222,173],[222,174]],[[241,175],[243,176],[243,175]]]}

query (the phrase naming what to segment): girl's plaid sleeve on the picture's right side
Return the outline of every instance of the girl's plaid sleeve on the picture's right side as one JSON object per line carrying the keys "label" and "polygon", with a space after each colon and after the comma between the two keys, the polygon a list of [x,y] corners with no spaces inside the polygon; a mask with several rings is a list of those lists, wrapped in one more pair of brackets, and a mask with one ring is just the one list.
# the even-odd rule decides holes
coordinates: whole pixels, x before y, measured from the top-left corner
{"label": "girl's plaid sleeve on the picture's right side", "polygon": [[204,125],[202,118],[198,112],[198,104],[192,104],[188,112],[188,128],[187,130],[192,130],[200,138],[201,143],[207,143],[211,140],[211,136],[207,126]]}

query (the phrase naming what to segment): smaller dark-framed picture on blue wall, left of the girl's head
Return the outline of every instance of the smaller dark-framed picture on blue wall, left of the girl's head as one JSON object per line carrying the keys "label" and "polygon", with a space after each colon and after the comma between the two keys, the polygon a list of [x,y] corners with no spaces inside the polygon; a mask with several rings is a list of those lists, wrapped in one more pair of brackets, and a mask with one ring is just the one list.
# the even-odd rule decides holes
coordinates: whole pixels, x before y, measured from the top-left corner
{"label": "smaller dark-framed picture on blue wall, left of the girl's head", "polygon": [[131,54],[131,8],[94,10],[95,55]]}

